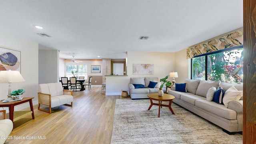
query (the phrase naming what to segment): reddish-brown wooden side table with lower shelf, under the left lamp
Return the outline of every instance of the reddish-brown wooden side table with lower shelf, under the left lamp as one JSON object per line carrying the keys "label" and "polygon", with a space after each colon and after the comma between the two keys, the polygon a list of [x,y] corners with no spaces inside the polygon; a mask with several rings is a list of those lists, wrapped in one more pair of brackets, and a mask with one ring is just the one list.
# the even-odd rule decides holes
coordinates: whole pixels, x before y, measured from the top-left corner
{"label": "reddish-brown wooden side table with lower shelf, under the left lamp", "polygon": [[[22,100],[15,101],[15,102],[0,102],[0,107],[9,107],[9,114],[6,114],[6,118],[9,118],[12,120],[18,120],[24,116],[27,116],[28,114],[32,114],[32,118],[35,119],[34,116],[34,109],[33,109],[33,103],[32,99],[34,97],[24,97]],[[25,102],[29,102],[30,104],[30,111],[16,111],[14,112],[14,106],[17,106],[19,104],[23,104]]]}

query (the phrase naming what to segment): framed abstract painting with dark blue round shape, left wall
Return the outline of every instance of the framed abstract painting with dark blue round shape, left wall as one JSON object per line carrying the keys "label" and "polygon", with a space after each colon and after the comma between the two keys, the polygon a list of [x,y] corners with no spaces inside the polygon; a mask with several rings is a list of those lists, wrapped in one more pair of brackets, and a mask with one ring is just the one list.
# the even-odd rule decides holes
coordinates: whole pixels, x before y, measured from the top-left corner
{"label": "framed abstract painting with dark blue round shape, left wall", "polygon": [[20,71],[20,51],[0,47],[0,71]]}

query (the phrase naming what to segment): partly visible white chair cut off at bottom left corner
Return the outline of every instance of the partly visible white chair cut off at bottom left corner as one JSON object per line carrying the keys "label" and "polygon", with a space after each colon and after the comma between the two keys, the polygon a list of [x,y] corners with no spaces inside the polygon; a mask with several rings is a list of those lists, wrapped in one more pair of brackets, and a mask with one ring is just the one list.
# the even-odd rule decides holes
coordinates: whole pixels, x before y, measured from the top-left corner
{"label": "partly visible white chair cut off at bottom left corner", "polygon": [[9,134],[12,132],[13,123],[6,119],[6,110],[0,110],[0,144],[4,144]]}

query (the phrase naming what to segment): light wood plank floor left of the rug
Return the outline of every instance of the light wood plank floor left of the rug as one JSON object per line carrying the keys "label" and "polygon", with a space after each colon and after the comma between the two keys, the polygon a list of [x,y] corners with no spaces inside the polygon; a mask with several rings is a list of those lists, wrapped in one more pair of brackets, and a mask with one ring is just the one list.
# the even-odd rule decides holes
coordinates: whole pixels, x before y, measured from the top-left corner
{"label": "light wood plank floor left of the rug", "polygon": [[110,144],[116,99],[123,97],[100,92],[101,87],[73,92],[73,107],[58,106],[51,114],[34,106],[35,119],[14,121],[12,140],[6,144]]}

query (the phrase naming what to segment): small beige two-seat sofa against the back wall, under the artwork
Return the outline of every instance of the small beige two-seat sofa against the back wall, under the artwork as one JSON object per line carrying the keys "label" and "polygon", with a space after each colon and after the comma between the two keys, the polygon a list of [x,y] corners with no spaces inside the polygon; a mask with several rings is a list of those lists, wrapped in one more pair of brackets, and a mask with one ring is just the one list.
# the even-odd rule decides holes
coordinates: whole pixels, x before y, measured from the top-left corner
{"label": "small beige two-seat sofa against the back wall, under the artwork", "polygon": [[[152,82],[158,82],[155,88],[148,88],[148,85]],[[135,88],[134,84],[142,84],[145,88]],[[129,94],[132,99],[148,98],[149,93],[158,93],[160,82],[157,77],[140,77],[130,78]],[[162,90],[166,93],[166,86],[163,86]]]}

